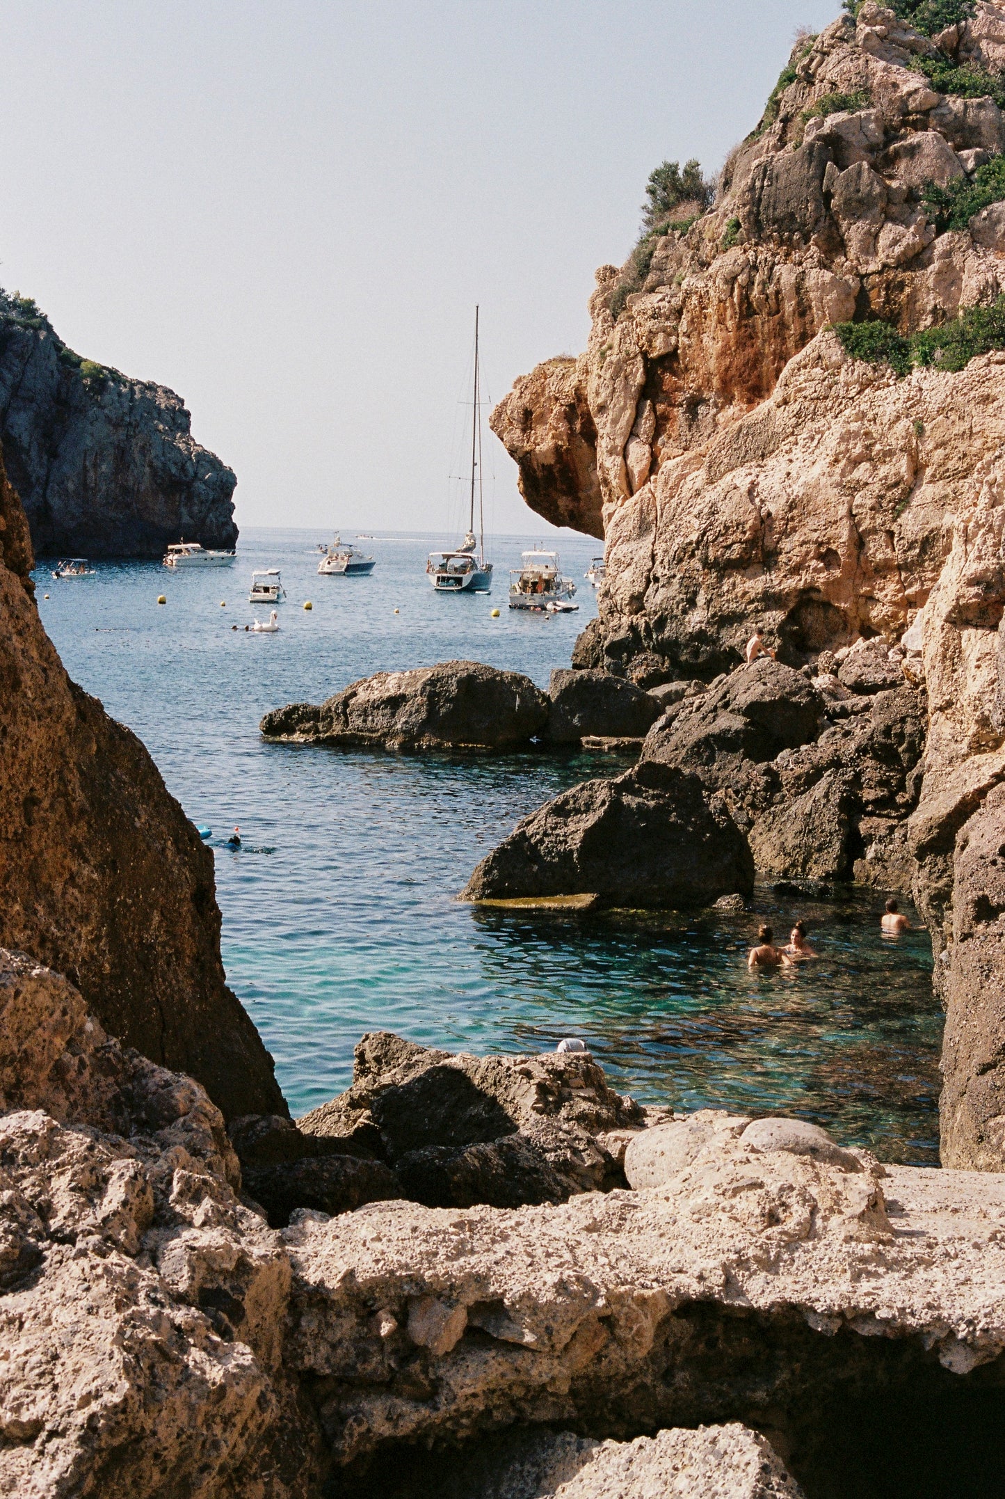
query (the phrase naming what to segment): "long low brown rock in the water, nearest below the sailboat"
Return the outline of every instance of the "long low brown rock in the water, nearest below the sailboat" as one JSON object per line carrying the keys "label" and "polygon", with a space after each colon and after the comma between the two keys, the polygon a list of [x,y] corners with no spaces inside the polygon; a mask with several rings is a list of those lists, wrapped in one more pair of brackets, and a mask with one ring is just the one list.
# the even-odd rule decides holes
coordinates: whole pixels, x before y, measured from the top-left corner
{"label": "long low brown rock in the water, nearest below the sailboat", "polygon": [[321,705],[291,703],[262,720],[267,739],[403,751],[509,750],[544,732],[548,699],[520,672],[442,661],[377,672]]}

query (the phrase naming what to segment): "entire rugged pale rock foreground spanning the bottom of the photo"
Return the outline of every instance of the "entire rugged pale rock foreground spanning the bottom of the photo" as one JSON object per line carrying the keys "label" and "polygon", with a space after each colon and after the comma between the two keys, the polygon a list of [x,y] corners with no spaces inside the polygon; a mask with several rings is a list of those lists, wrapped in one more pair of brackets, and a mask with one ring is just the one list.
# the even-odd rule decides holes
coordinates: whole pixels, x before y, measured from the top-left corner
{"label": "entire rugged pale rock foreground spanning the bottom of the photo", "polygon": [[932,1433],[971,1492],[1005,1405],[1005,1178],[643,1111],[584,1057],[391,1040],[304,1133],[400,1153],[418,1084],[455,1153],[578,1150],[565,1201],[400,1180],[270,1228],[202,1088],[3,953],[1,1493],[830,1499],[891,1492],[858,1481],[876,1430],[899,1492]]}

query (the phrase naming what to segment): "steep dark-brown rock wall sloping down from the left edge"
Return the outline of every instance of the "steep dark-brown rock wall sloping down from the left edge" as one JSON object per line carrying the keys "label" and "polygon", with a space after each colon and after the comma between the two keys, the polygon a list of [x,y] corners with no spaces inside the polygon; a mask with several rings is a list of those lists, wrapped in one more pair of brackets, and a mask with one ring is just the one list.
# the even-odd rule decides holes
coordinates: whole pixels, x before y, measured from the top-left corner
{"label": "steep dark-brown rock wall sloping down from the left edge", "polygon": [[111,1034],[226,1114],[286,1112],[220,961],[213,854],[142,744],[67,678],[0,466],[0,944],[66,973]]}

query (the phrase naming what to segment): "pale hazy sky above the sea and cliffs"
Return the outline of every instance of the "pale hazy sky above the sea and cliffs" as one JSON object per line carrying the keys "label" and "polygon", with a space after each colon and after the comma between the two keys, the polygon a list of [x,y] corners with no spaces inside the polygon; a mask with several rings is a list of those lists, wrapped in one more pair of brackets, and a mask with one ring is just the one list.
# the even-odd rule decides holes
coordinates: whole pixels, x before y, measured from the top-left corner
{"label": "pale hazy sky above the sea and cliffs", "polygon": [[439,531],[475,303],[493,400],[578,352],[650,169],[717,168],[839,9],[1,0],[0,285],[180,391],[238,523]]}

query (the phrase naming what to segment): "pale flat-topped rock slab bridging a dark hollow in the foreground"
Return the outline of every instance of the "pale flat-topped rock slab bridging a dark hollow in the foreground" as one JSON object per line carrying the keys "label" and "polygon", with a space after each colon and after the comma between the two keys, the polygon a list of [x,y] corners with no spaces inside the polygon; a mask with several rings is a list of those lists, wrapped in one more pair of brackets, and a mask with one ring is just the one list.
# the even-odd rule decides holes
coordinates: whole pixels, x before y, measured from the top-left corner
{"label": "pale flat-topped rock slab bridging a dark hollow in the foreground", "polygon": [[[995,1420],[1005,1180],[824,1159],[795,1127],[749,1127],[649,1190],[517,1213],[374,1204],[286,1229],[286,1358],[337,1459],[511,1424],[625,1441],[729,1420],[777,1438],[809,1493],[845,1493],[828,1444],[849,1397],[887,1441],[912,1390],[950,1405],[981,1388]],[[915,1430],[924,1450],[924,1417]]]}

